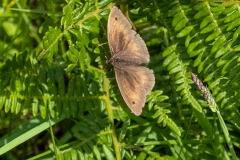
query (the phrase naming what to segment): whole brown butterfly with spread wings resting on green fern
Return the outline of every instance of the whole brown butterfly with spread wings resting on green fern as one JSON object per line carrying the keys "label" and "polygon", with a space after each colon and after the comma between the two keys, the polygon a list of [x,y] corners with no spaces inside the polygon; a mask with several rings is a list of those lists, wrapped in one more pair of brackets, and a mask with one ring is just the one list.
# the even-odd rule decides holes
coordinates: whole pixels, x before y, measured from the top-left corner
{"label": "whole brown butterfly with spread wings resting on green fern", "polygon": [[131,111],[139,116],[151,92],[155,77],[153,71],[141,66],[149,62],[146,44],[122,12],[113,7],[108,18],[108,44],[118,87]]}

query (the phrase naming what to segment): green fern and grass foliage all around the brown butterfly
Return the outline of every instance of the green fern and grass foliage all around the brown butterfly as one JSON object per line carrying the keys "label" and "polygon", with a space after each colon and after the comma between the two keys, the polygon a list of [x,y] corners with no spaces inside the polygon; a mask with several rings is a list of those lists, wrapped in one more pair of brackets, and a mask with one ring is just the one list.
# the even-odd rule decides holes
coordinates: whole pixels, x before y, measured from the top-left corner
{"label": "green fern and grass foliage all around the brown butterfly", "polygon": [[[240,155],[238,2],[1,3],[1,159]],[[146,42],[156,77],[139,117],[125,105],[105,63],[113,5]],[[208,108],[190,71],[211,91],[218,112]]]}

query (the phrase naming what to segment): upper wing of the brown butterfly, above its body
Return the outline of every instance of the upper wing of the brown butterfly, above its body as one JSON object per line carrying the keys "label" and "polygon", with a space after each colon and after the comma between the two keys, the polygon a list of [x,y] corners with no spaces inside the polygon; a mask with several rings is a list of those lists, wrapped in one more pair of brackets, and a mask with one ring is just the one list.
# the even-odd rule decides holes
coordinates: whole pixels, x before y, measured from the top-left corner
{"label": "upper wing of the brown butterfly, above its body", "polygon": [[146,44],[115,6],[108,18],[108,43],[113,57],[138,64],[149,62]]}

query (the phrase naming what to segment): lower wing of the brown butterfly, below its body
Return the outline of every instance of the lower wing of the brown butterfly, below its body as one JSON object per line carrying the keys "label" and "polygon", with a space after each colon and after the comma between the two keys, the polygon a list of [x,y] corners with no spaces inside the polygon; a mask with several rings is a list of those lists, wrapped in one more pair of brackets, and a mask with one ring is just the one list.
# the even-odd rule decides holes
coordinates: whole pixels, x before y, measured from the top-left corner
{"label": "lower wing of the brown butterfly, below its body", "polygon": [[155,84],[153,71],[142,66],[115,67],[114,71],[124,101],[139,116]]}

